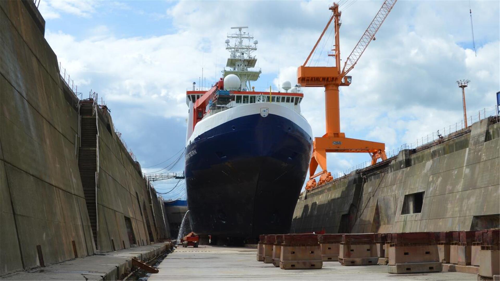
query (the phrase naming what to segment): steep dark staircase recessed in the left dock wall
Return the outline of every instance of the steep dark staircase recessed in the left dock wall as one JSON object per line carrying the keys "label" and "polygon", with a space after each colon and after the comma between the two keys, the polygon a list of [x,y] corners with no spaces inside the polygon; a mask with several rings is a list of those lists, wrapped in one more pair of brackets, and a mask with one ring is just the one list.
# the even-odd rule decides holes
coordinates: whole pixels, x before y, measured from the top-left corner
{"label": "steep dark staircase recessed in the left dock wall", "polygon": [[78,168],[92,234],[97,246],[97,176],[99,169],[99,133],[97,129],[97,106],[94,99],[80,101],[80,146]]}

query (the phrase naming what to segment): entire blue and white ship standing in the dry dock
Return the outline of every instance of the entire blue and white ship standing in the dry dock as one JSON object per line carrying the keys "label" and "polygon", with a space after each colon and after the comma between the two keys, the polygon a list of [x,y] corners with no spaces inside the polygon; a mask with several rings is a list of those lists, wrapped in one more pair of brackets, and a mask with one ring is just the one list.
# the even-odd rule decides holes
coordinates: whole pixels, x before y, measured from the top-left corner
{"label": "entire blue and white ship standing in the dry dock", "polygon": [[232,28],[238,32],[225,40],[223,77],[206,91],[193,84],[186,92],[191,227],[212,237],[284,233],[312,149],[310,125],[300,115],[303,94],[289,82],[283,91],[255,90],[258,42],[242,31],[246,26]]}

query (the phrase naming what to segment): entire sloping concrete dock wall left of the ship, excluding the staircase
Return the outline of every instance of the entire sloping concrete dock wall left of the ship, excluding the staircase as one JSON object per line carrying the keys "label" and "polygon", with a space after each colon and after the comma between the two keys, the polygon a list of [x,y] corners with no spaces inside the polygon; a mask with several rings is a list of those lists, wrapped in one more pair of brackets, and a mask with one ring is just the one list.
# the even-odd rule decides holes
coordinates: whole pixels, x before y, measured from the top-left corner
{"label": "entire sloping concrete dock wall left of the ship, excluding the staircase", "polygon": [[33,2],[0,1],[0,20],[0,275],[167,238],[160,200],[105,109],[93,238],[78,163],[81,101],[60,78]]}

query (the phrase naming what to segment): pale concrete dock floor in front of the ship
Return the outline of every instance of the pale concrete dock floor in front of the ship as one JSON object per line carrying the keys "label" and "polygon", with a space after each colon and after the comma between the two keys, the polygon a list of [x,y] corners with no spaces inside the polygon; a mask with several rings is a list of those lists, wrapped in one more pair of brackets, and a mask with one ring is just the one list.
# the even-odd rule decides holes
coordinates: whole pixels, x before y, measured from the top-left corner
{"label": "pale concrete dock floor in front of the ship", "polygon": [[475,274],[436,272],[390,274],[386,265],[342,266],[323,262],[321,269],[284,270],[256,260],[257,250],[245,247],[200,245],[177,247],[157,267],[159,273],[148,280],[475,280]]}

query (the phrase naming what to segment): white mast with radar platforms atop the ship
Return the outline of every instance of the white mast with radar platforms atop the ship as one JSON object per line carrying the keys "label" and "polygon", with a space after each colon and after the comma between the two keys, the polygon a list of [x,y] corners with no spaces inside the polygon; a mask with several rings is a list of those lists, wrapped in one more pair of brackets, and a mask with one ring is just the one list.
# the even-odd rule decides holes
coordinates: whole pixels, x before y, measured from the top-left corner
{"label": "white mast with radar platforms atop the ship", "polygon": [[[239,90],[245,91],[251,88],[250,81],[255,81],[261,73],[260,69],[254,68],[257,58],[252,55],[257,50],[257,40],[253,40],[253,35],[247,32],[242,32],[243,28],[248,26],[234,26],[231,29],[238,29],[237,32],[227,34],[225,40],[225,49],[229,51],[226,67],[223,76],[235,74],[241,81]],[[233,40],[233,44],[230,42]]]}

